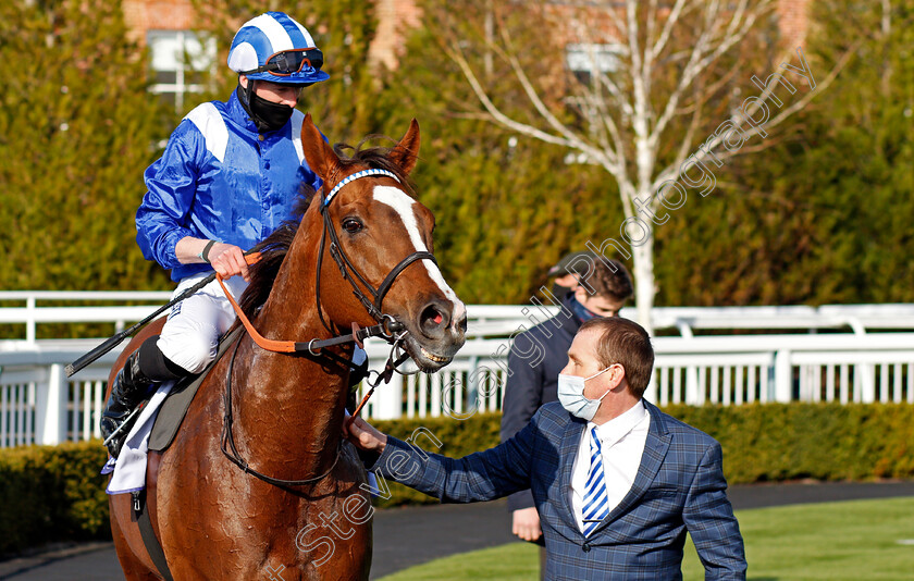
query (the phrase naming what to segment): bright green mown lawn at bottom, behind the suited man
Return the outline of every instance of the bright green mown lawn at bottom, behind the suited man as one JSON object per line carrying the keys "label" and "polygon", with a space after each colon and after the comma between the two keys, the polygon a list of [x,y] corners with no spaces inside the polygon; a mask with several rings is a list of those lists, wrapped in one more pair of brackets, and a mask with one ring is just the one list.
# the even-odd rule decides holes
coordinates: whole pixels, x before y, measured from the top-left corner
{"label": "bright green mown lawn at bottom, behind the suited man", "polygon": [[[914,497],[741,510],[737,518],[750,580],[914,579]],[[539,579],[538,552],[529,543],[510,543],[433,560],[381,581],[530,581]],[[704,579],[691,541],[682,574],[687,581]]]}

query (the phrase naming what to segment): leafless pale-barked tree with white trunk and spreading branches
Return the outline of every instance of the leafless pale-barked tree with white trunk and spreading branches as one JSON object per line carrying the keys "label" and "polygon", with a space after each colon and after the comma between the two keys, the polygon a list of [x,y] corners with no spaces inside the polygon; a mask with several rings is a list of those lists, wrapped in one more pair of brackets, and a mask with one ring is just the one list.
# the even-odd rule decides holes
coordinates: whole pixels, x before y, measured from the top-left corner
{"label": "leafless pale-barked tree with white trunk and spreading branches", "polygon": [[[727,138],[722,128],[718,135],[718,128],[720,123],[731,120],[728,118],[714,124],[706,114],[708,101],[732,82],[738,72],[736,63],[744,62],[744,59],[737,55],[734,64],[728,63],[722,75],[712,74],[712,71],[741,44],[750,41],[746,48],[740,47],[740,51],[752,51],[751,42],[761,42],[754,32],[776,1],[668,0],[665,3],[641,0],[639,3],[639,0],[571,0],[557,8],[549,4],[555,10],[546,12],[559,14],[556,36],[563,38],[563,42],[580,47],[584,57],[580,72],[589,74],[588,82],[572,84],[571,95],[558,100],[548,97],[551,94],[546,90],[552,87],[539,86],[539,79],[524,67],[519,57],[522,53],[518,50],[521,47],[515,46],[509,29],[512,18],[498,20],[497,40],[490,34],[486,50],[507,63],[511,78],[526,98],[521,107],[529,102],[526,107],[535,118],[532,123],[541,124],[543,128],[505,114],[493,102],[490,90],[494,88],[485,87],[475,76],[460,46],[454,41],[445,49],[469,82],[487,118],[521,135],[584,153],[590,161],[600,164],[618,183],[627,219],[622,230],[633,225],[646,230],[650,235],[654,228],[651,220],[632,222],[630,219],[643,211],[645,202],[657,208],[659,199],[651,198],[651,195],[663,182],[678,176],[683,162],[694,151],[696,136],[711,132],[700,144],[704,150],[700,156],[707,154]],[[512,2],[510,8],[524,10],[523,5]],[[569,33],[573,40],[569,40]],[[618,57],[613,66],[606,66],[604,51],[607,46],[613,46],[613,55]],[[615,52],[616,47],[618,52]],[[849,58],[845,54],[817,88],[827,89]],[[677,74],[670,75],[670,71]],[[765,88],[754,106],[746,104],[748,110],[734,114],[757,116],[757,109],[766,107],[771,97],[771,88]],[[812,98],[812,91],[802,96],[764,127],[782,123]],[[556,101],[563,104],[557,106]],[[567,121],[557,107],[578,116]],[[758,135],[762,129],[748,131]],[[757,151],[776,143],[773,138],[767,143],[745,144],[740,152]],[[660,154],[665,160],[672,156],[671,163],[657,168]],[[720,160],[733,154],[736,152],[728,150],[716,157]],[[625,238],[626,232],[620,235]],[[638,244],[631,240],[639,320],[649,325],[645,309],[650,310],[654,297],[652,249],[650,236]]]}

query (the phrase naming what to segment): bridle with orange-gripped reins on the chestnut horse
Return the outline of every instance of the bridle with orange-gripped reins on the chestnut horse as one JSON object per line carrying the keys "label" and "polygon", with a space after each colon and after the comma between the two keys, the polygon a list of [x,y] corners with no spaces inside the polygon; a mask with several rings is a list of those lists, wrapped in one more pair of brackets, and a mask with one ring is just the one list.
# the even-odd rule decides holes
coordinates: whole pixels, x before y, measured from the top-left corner
{"label": "bridle with orange-gripped reins on the chestnut horse", "polygon": [[[353,412],[353,417],[358,416],[361,408],[368,401],[368,398],[374,393],[374,388],[383,381],[384,383],[388,383],[391,378],[393,376],[394,371],[398,371],[397,368],[403,364],[409,356],[404,353],[399,356],[396,356],[398,347],[402,345],[404,339],[406,338],[408,331],[405,330],[403,323],[394,319],[392,314],[383,312],[383,301],[384,297],[387,295],[387,292],[393,286],[394,281],[396,281],[397,276],[406,270],[407,267],[412,264],[418,260],[431,260],[437,265],[437,260],[435,260],[434,255],[428,251],[416,251],[411,255],[407,256],[403,260],[400,260],[396,267],[391,270],[391,272],[384,277],[381,284],[375,288],[368,282],[368,280],[362,275],[361,272],[353,264],[349,257],[346,256],[346,252],[343,250],[343,246],[339,244],[339,238],[336,235],[336,230],[333,227],[333,223],[330,219],[330,212],[328,211],[328,207],[336,194],[346,186],[347,184],[360,180],[362,177],[369,176],[386,176],[392,177],[394,181],[399,183],[399,178],[393,173],[387,170],[381,169],[369,169],[362,170],[356,173],[353,173],[339,182],[326,194],[320,202],[320,213],[323,218],[323,234],[321,235],[321,244],[320,249],[318,251],[318,268],[317,274],[314,276],[314,301],[317,304],[318,316],[320,317],[321,324],[333,333],[333,327],[326,323],[323,316],[323,308],[321,306],[321,269],[323,265],[323,255],[324,248],[326,247],[326,239],[330,238],[330,256],[333,258],[333,261],[336,262],[336,267],[339,269],[339,273],[343,275],[343,279],[349,282],[349,285],[353,287],[353,294],[356,298],[359,299],[359,302],[365,307],[366,311],[378,322],[378,324],[359,329],[356,323],[353,323],[353,331],[349,334],[338,335],[336,337],[332,337],[329,339],[311,339],[306,343],[301,342],[292,342],[292,341],[275,341],[275,339],[268,339],[260,335],[254,325],[250,323],[248,318],[243,313],[240,307],[235,301],[234,297],[231,293],[225,288],[225,285],[222,283],[222,276],[217,275],[217,280],[219,284],[222,285],[223,290],[225,292],[226,298],[232,304],[232,307],[235,309],[235,312],[238,316],[238,319],[242,321],[242,324],[247,330],[248,334],[251,336],[251,339],[261,348],[274,351],[274,353],[285,353],[285,354],[300,354],[306,355],[314,358],[325,357],[331,360],[334,360],[337,363],[346,366],[350,364],[350,361],[347,359],[339,357],[338,355],[334,354],[333,351],[323,350],[324,347],[330,347],[334,345],[342,345],[344,343],[354,342],[359,347],[363,347],[362,341],[368,337],[382,337],[384,341],[392,345],[391,355],[387,357],[387,361],[384,363],[384,371],[374,372],[378,373],[374,383],[372,384],[368,381],[369,386],[371,387],[369,392],[362,397],[361,403],[359,403],[356,410]],[[249,262],[256,262],[259,259],[259,256],[251,255],[249,258]],[[360,283],[368,292],[371,294],[371,297],[359,287]],[[222,442],[221,448],[222,453],[238,468],[245,471],[245,473],[251,474],[264,482],[276,486],[297,486],[302,484],[311,484],[318,482],[324,478],[326,478],[333,469],[336,467],[336,463],[339,461],[339,448],[336,449],[336,457],[333,460],[331,467],[322,474],[309,479],[301,479],[301,480],[283,480],[276,479],[272,477],[268,477],[257,470],[250,468],[248,462],[240,457],[238,449],[235,446],[235,438],[232,434],[232,424],[234,422],[234,415],[232,410],[232,370],[235,363],[235,356],[238,353],[238,345],[240,342],[235,344],[235,347],[232,351],[232,357],[228,360],[228,376],[225,380],[225,416],[223,418],[223,427],[222,427]],[[228,448],[231,447],[231,452]]]}

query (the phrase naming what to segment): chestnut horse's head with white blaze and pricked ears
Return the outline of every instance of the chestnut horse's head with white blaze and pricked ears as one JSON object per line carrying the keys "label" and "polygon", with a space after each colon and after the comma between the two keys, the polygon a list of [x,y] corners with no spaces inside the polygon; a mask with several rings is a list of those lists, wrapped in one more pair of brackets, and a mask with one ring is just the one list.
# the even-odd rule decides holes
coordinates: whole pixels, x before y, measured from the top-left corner
{"label": "chestnut horse's head with white blaze and pricked ears", "polygon": [[[467,311],[431,257],[434,217],[409,194],[419,124],[413,120],[390,151],[368,149],[346,158],[323,140],[308,115],[301,144],[308,164],[324,182],[323,196],[316,200],[325,226],[319,273],[324,312],[342,330],[390,316],[408,331],[404,346],[421,370],[446,366],[464,345]],[[360,173],[366,170],[382,172]],[[349,269],[349,281],[335,260]]]}

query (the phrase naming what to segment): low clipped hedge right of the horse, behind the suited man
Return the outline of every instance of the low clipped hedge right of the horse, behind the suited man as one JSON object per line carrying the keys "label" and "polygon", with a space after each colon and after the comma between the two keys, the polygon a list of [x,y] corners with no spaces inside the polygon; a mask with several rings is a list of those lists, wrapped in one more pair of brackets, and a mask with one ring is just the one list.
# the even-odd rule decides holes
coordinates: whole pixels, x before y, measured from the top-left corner
{"label": "low clipped hedge right of the horse, behind the suited man", "polygon": [[[720,442],[730,484],[815,480],[914,478],[914,406],[906,404],[753,404],[745,406],[668,406],[664,411]],[[419,427],[443,442],[418,445],[460,457],[498,443],[499,413],[452,418],[378,421],[379,430],[407,437]],[[390,499],[381,507],[437,500],[388,481]]]}

